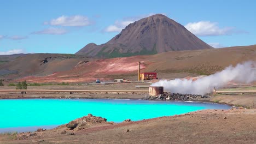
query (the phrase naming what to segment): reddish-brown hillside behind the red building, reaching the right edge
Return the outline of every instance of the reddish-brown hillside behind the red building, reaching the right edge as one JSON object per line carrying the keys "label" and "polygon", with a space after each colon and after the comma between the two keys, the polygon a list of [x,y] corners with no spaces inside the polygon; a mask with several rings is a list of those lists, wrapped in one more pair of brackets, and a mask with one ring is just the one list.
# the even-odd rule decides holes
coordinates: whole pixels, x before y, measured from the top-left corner
{"label": "reddish-brown hillside behind the red building, reaching the right edge", "polygon": [[[31,82],[88,82],[95,79],[130,78],[136,80],[137,65],[142,62],[142,71],[155,71],[161,78],[176,74],[208,75],[222,70],[230,64],[256,61],[256,45],[228,47],[223,49],[174,51],[158,55],[125,58],[99,59],[82,63],[73,69],[60,71],[43,77],[25,77]],[[57,68],[57,65],[55,65]],[[161,76],[168,74],[167,76]],[[176,75],[177,76],[177,75]]]}

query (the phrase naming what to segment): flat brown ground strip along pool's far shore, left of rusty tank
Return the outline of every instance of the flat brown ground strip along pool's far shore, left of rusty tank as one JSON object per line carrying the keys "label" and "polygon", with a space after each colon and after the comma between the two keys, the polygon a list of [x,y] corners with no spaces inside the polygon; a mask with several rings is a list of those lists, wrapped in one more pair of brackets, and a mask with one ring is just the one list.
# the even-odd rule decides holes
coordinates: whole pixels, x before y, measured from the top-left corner
{"label": "flat brown ground strip along pool's far shore, left of rusty tank", "polygon": [[[149,86],[148,83],[123,83],[113,85],[67,85],[67,86],[28,86],[27,89],[73,89],[73,90],[148,90],[148,88],[136,88],[137,85]],[[15,89],[15,86],[3,86],[0,89]],[[56,93],[56,92],[0,92],[0,99],[14,98],[88,98],[88,99],[141,99],[147,93]]]}

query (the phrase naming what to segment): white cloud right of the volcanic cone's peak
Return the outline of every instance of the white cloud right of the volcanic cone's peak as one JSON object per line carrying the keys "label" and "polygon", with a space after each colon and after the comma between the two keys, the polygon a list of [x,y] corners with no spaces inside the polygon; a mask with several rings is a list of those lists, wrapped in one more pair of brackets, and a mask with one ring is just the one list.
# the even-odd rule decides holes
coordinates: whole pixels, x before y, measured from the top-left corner
{"label": "white cloud right of the volcanic cone's peak", "polygon": [[185,25],[191,33],[197,36],[229,35],[234,33],[234,27],[219,28],[217,22],[199,21]]}

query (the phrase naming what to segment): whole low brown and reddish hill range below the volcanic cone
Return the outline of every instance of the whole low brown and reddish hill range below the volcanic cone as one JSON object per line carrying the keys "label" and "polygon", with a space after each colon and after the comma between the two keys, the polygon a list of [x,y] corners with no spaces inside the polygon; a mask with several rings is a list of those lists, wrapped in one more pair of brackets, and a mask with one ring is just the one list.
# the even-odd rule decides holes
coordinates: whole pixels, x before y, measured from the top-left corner
{"label": "whole low brown and reddish hill range below the volcanic cone", "polygon": [[[138,62],[142,72],[156,72],[159,79],[210,75],[230,64],[256,61],[256,45],[190,51],[170,51],[156,55],[122,58],[69,58],[56,54],[31,54],[8,62],[1,69],[16,71],[2,79],[27,82],[91,82],[96,79],[137,80]],[[52,58],[49,58],[52,57]],[[44,63],[44,60],[48,62]],[[54,73],[57,71],[56,73]],[[6,73],[6,71],[3,71]],[[54,74],[53,74],[54,73]],[[30,77],[26,77],[30,76]],[[1,76],[0,76],[1,79]]]}

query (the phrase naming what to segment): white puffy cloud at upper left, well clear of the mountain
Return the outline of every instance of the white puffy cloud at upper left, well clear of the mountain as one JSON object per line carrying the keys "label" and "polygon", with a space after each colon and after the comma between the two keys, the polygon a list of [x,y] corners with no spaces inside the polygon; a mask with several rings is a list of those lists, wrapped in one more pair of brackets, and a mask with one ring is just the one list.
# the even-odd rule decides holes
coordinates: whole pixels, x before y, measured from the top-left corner
{"label": "white puffy cloud at upper left, well clear of the mountain", "polygon": [[57,19],[53,19],[50,22],[44,22],[44,25],[52,26],[70,26],[70,27],[82,27],[88,26],[91,24],[91,21],[86,16],[74,15],[74,16],[65,16],[62,15]]}

